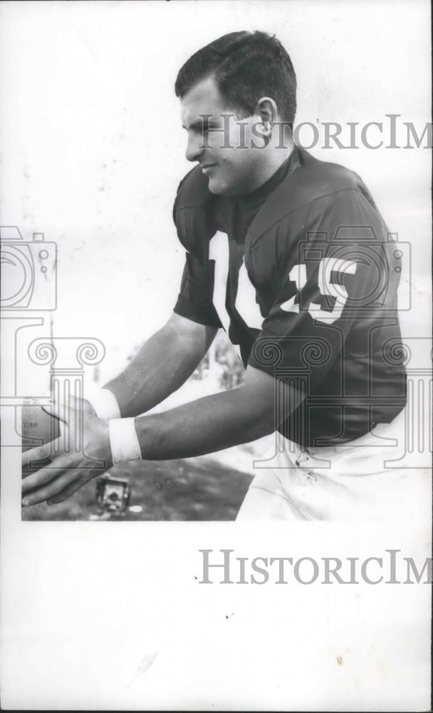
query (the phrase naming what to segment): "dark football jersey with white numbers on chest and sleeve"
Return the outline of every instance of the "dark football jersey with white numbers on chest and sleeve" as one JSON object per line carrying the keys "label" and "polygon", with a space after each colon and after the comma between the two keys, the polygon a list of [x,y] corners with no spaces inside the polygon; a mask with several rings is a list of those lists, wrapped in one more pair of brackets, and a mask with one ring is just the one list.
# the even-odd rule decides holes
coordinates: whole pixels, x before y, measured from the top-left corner
{"label": "dark football jersey with white numbers on chest and sleeve", "polygon": [[197,166],[174,222],[187,250],[174,312],[224,327],[244,366],[303,391],[278,414],[283,435],[328,446],[397,416],[402,252],[358,175],[295,148],[266,184],[229,198]]}

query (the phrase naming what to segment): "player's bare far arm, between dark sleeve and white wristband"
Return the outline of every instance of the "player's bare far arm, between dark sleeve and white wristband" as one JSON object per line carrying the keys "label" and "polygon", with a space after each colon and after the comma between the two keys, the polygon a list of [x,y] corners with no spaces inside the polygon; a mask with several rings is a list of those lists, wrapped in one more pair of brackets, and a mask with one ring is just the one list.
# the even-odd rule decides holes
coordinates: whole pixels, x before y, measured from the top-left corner
{"label": "player's bare far arm, between dark sleeve and white wristband", "polygon": [[202,361],[217,331],[173,312],[122,374],[104,387],[115,395],[122,418],[144,414],[179,389]]}

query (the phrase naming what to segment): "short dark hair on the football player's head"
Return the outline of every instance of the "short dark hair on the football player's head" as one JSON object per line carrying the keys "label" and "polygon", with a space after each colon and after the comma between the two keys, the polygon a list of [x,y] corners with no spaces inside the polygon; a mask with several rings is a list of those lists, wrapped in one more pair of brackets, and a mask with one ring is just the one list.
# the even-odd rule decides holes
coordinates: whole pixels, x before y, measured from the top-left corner
{"label": "short dark hair on the football player's head", "polygon": [[296,74],[275,35],[231,32],[195,52],[179,70],[174,91],[184,96],[194,84],[214,76],[229,106],[251,116],[262,96],[270,96],[283,120],[296,113]]}

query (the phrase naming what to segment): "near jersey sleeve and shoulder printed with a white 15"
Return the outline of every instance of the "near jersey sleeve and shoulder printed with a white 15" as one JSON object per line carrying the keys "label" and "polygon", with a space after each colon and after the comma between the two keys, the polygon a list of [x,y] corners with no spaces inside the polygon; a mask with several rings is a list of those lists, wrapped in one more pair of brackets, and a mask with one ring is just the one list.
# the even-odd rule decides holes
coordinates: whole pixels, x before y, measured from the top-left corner
{"label": "near jersey sleeve and shoulder printed with a white 15", "polygon": [[[314,200],[273,233],[276,294],[249,364],[273,376],[276,367],[298,374],[308,368],[311,389],[323,391],[344,351],[338,379],[350,391],[351,380],[365,379],[370,359],[383,360],[380,347],[371,354],[371,336],[384,317],[395,322],[396,246],[375,205],[352,188]],[[329,392],[335,389],[347,391],[334,384]]]}

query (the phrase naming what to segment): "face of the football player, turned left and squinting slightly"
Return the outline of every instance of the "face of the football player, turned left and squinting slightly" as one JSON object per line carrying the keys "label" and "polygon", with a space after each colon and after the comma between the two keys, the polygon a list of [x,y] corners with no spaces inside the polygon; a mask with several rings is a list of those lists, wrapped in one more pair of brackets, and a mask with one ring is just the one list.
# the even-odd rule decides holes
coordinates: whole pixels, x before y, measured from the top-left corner
{"label": "face of the football player, turned left and squinting slightly", "polygon": [[[212,77],[182,97],[181,113],[188,132],[187,159],[202,167],[212,193],[243,195],[260,185],[266,150],[257,128],[251,133],[259,125],[259,115],[237,119]],[[224,119],[224,114],[230,118]]]}

